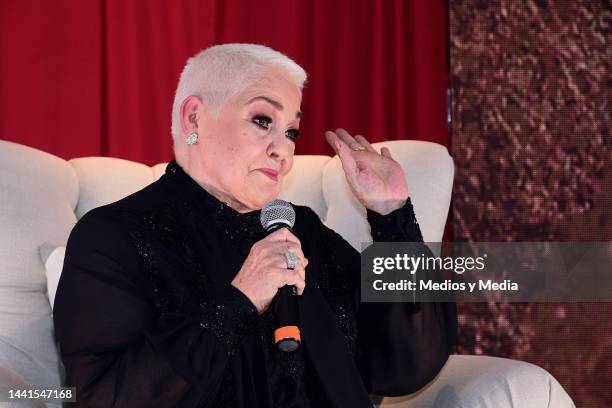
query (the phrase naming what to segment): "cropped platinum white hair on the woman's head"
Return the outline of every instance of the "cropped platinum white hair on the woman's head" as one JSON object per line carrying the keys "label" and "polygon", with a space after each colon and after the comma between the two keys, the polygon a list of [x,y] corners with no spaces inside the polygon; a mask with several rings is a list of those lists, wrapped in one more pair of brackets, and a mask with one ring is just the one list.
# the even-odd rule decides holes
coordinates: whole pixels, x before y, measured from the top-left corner
{"label": "cropped platinum white hair on the woman's head", "polygon": [[187,60],[172,104],[172,138],[181,134],[181,105],[197,96],[216,116],[229,99],[246,89],[268,69],[280,67],[302,90],[306,71],[291,58],[258,44],[215,45]]}

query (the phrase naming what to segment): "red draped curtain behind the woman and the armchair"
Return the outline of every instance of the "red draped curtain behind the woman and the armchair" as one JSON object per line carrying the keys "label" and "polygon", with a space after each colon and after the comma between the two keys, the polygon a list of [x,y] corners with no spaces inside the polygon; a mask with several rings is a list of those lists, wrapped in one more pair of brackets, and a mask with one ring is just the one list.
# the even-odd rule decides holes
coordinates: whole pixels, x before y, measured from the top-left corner
{"label": "red draped curtain behind the woman and the armchair", "polygon": [[64,158],[172,158],[188,57],[277,49],[309,74],[298,154],[326,129],[447,145],[444,0],[3,0],[0,138]]}

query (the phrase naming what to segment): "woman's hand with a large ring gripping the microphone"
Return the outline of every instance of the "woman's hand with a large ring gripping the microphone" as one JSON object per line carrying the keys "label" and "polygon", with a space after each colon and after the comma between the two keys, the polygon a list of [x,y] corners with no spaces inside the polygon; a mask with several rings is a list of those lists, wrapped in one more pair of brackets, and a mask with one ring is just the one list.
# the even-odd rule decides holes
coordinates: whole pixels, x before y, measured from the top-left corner
{"label": "woman's hand with a large ring gripping the microphone", "polygon": [[[287,251],[298,257],[294,269],[287,268]],[[253,244],[232,285],[244,293],[261,314],[283,286],[295,286],[298,295],[304,292],[307,265],[308,259],[299,239],[287,228],[281,228]]]}

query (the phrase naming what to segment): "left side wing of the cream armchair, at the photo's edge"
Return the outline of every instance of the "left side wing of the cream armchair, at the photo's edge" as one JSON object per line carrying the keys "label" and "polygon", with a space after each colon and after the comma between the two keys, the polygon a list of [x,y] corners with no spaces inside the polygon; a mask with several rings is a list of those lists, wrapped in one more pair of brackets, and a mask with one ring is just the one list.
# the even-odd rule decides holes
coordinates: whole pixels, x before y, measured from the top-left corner
{"label": "left side wing of the cream armchair, at the photo's edge", "polygon": [[0,142],[0,367],[45,388],[60,385],[60,363],[39,253],[66,244],[77,200],[69,163]]}

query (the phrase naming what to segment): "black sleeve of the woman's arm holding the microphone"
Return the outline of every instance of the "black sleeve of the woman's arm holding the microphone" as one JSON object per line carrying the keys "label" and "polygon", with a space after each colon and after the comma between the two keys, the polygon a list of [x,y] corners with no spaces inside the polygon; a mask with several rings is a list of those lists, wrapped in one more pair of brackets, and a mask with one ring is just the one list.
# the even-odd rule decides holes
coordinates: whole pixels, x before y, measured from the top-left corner
{"label": "black sleeve of the woman's arm holding the microphone", "polygon": [[[237,289],[201,313],[156,312],[148,276],[120,223],[98,210],[70,235],[54,307],[66,384],[77,406],[199,407],[257,319]],[[233,288],[233,287],[232,287]]]}

